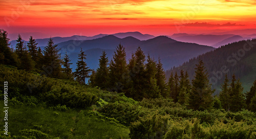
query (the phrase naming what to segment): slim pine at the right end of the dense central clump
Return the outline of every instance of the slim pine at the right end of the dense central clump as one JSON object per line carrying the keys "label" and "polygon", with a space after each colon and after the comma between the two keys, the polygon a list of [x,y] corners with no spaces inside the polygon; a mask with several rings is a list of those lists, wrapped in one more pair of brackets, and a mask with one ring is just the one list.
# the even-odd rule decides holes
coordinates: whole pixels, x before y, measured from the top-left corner
{"label": "slim pine at the right end of the dense central clump", "polygon": [[157,79],[157,86],[160,89],[160,94],[163,97],[167,97],[165,73],[164,73],[163,64],[161,63],[160,58],[158,58],[158,63],[157,63],[156,79]]}

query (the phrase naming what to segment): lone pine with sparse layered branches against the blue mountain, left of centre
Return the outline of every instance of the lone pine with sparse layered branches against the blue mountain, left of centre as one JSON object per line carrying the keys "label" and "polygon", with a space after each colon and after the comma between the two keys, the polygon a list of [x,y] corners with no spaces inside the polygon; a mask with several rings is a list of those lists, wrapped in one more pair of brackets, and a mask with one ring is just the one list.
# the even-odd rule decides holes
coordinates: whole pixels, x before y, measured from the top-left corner
{"label": "lone pine with sparse layered branches against the blue mountain, left of centre", "polygon": [[89,73],[92,71],[89,67],[87,67],[87,63],[84,61],[86,60],[86,56],[84,52],[80,51],[78,54],[78,61],[76,63],[76,71],[74,72],[74,76],[76,80],[81,84],[86,84],[86,78],[89,78]]}

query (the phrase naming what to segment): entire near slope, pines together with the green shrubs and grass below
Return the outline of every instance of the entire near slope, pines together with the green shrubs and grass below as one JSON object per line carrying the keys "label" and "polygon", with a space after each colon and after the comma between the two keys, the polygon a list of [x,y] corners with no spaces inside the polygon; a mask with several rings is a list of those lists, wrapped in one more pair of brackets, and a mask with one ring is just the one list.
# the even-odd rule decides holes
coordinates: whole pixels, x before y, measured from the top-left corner
{"label": "entire near slope, pines together with the green shrubs and grass below", "polygon": [[193,75],[180,70],[166,79],[161,58],[140,47],[128,62],[121,44],[112,59],[103,51],[96,71],[81,48],[72,72],[75,63],[60,58],[51,38],[44,50],[20,35],[10,48],[4,30],[0,41],[0,80],[8,81],[13,110],[2,138],[256,138],[256,80],[244,92],[242,75],[226,75],[214,96],[201,57]]}

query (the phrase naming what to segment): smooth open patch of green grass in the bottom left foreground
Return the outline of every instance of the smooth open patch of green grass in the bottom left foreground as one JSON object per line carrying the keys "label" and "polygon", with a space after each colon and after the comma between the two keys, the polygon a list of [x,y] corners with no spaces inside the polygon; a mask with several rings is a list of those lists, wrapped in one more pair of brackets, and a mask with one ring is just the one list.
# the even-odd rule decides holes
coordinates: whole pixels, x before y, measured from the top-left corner
{"label": "smooth open patch of green grass in the bottom left foreground", "polygon": [[[0,104],[3,108],[4,102]],[[19,105],[10,106],[8,111],[8,130],[11,136],[20,135],[20,130],[36,129],[48,134],[50,138],[129,138],[129,128],[87,115],[86,110],[63,112],[42,106]],[[4,118],[3,110],[0,117]]]}

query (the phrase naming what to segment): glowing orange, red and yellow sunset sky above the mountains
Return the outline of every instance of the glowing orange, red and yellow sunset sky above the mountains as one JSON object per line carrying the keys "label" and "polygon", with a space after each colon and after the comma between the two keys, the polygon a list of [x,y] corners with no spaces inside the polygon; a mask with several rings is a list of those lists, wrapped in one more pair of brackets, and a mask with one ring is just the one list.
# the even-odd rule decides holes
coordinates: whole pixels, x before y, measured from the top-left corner
{"label": "glowing orange, red and yellow sunset sky above the mountains", "polygon": [[0,0],[0,5],[0,28],[11,38],[256,29],[254,0]]}

